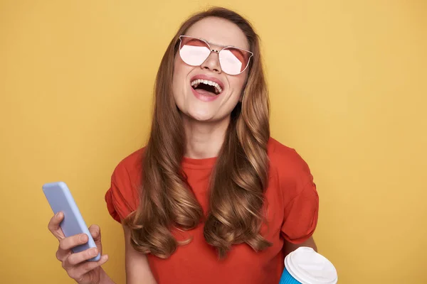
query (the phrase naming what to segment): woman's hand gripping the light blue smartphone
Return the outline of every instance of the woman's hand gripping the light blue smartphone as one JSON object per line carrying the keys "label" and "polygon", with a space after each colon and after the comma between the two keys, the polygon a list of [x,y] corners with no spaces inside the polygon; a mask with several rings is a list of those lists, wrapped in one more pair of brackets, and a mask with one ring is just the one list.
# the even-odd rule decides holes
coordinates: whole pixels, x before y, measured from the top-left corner
{"label": "woman's hand gripping the light blue smartphone", "polygon": [[[62,266],[67,271],[70,278],[73,278],[79,284],[99,284],[102,271],[102,264],[107,262],[108,256],[102,255],[101,244],[101,231],[97,225],[89,227],[90,234],[95,241],[97,249],[87,249],[79,253],[73,253],[71,249],[80,244],[88,242],[86,234],[77,234],[74,236],[65,237],[62,229],[60,229],[60,222],[63,220],[63,213],[58,212],[51,218],[48,224],[48,229],[53,236],[59,241],[58,251],[56,251],[56,258],[62,262]],[[101,253],[99,261],[87,261],[93,258],[97,253]]]}

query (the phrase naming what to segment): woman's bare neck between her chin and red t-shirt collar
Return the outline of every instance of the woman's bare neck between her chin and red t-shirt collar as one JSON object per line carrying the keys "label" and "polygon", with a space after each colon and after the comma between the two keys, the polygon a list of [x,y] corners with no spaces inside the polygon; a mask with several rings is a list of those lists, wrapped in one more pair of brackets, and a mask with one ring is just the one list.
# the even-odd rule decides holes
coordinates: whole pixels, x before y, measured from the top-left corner
{"label": "woman's bare neck between her chin and red t-shirt collar", "polygon": [[200,122],[183,117],[186,135],[187,158],[203,159],[216,157],[221,150],[230,117],[216,122]]}

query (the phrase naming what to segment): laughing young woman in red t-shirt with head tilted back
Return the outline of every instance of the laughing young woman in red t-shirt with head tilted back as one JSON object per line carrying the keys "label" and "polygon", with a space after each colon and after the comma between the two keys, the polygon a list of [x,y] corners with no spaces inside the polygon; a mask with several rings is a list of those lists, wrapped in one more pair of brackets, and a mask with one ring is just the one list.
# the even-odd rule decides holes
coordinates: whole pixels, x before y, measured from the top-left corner
{"label": "laughing young woman in red t-shirt with head tilted back", "polygon": [[[185,21],[157,74],[147,146],[122,160],[105,195],[125,230],[127,283],[278,283],[283,259],[315,248],[318,196],[310,169],[270,137],[258,35],[246,19],[210,9]],[[59,239],[78,283],[113,283],[88,262],[98,248]]]}

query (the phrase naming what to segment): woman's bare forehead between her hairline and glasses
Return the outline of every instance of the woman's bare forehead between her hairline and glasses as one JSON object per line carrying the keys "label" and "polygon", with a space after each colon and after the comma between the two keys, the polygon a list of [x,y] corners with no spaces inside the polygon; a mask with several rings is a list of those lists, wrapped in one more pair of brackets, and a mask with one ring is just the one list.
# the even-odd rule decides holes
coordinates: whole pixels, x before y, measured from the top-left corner
{"label": "woman's bare forehead between her hairline and glasses", "polygon": [[249,43],[243,31],[231,21],[224,18],[204,18],[194,23],[186,35],[203,38],[215,45],[233,45],[249,50]]}

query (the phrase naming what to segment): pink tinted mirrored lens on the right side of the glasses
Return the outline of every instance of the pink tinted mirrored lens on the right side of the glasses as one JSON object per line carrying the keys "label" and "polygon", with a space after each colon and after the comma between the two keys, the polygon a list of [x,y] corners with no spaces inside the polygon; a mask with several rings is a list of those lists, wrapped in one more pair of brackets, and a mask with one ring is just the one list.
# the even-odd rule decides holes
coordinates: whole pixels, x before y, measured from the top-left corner
{"label": "pink tinted mirrored lens on the right side of the glasses", "polygon": [[221,69],[229,75],[238,75],[248,66],[250,53],[238,48],[224,48],[219,53]]}

